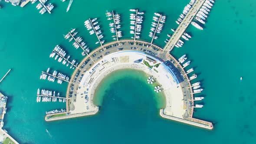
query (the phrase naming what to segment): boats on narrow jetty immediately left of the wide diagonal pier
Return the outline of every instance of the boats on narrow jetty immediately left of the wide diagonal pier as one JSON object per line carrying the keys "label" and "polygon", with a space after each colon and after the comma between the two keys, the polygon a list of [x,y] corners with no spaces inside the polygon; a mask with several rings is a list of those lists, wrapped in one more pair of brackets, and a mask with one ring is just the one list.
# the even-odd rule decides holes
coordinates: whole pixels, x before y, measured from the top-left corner
{"label": "boats on narrow jetty immediately left of the wide diagonal pier", "polygon": [[158,36],[156,36],[156,33],[161,33],[164,23],[165,23],[166,16],[163,16],[159,13],[154,13],[153,16],[153,22],[151,23],[151,32],[149,32],[149,37],[152,39],[158,39]]}

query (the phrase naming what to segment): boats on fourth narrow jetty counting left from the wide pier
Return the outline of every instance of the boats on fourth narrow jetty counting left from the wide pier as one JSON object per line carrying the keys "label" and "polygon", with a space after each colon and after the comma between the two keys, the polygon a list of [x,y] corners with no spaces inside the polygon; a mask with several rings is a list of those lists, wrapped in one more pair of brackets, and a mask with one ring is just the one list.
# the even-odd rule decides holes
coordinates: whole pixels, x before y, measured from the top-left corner
{"label": "boats on fourth narrow jetty counting left from the wide pier", "polygon": [[[98,22],[96,21],[97,18],[94,18],[94,19],[89,19],[89,20],[85,20],[85,28],[87,30],[90,30],[89,33],[90,35],[92,34],[96,34],[96,36],[98,37],[98,42],[96,42],[95,44],[98,44],[98,43],[101,43],[101,45],[105,42],[105,40],[101,40],[104,36],[101,34],[101,30],[98,30],[100,29],[100,26],[97,25]],[[100,35],[101,34],[101,35]]]}

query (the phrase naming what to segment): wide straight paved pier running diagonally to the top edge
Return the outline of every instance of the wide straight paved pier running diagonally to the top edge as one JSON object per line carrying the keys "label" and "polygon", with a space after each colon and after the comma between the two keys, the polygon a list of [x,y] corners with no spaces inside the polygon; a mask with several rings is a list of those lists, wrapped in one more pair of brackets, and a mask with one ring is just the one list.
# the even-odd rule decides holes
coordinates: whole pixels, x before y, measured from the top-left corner
{"label": "wide straight paved pier running diagonally to the top edge", "polygon": [[202,7],[205,0],[196,0],[194,6],[188,11],[187,15],[182,20],[181,24],[177,27],[174,34],[171,36],[168,43],[164,46],[164,50],[171,52],[175,44],[181,38],[191,21],[194,19],[194,16],[197,14],[200,7]]}

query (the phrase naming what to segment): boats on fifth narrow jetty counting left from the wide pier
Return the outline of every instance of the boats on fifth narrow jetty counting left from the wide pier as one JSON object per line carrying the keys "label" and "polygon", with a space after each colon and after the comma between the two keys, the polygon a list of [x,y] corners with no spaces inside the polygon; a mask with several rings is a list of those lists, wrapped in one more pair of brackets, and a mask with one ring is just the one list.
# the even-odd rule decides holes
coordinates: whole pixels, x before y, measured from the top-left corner
{"label": "boats on fifth narrow jetty counting left from the wide pier", "polygon": [[67,33],[66,35],[63,35],[65,39],[69,39],[69,42],[71,42],[72,40],[75,40],[75,42],[73,43],[73,46],[75,47],[75,49],[78,49],[79,47],[81,49],[83,49],[83,52],[82,52],[82,56],[85,56],[86,53],[89,53],[90,52],[90,49],[89,47],[85,46],[85,42],[82,42],[82,37],[81,36],[78,36],[75,38],[75,35],[77,34],[78,32],[75,32],[75,29],[72,29],[69,31],[69,33]]}

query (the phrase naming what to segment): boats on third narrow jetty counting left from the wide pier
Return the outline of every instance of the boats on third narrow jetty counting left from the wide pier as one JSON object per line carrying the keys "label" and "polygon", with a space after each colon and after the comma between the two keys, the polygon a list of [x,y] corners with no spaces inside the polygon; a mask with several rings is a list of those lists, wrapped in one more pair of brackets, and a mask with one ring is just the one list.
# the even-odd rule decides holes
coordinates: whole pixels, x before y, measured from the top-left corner
{"label": "boats on third narrow jetty counting left from the wide pier", "polygon": [[110,26],[110,32],[111,33],[115,33],[115,35],[112,36],[112,39],[118,39],[120,37],[122,37],[122,31],[118,30],[121,28],[121,17],[120,14],[116,13],[114,14],[114,12],[108,12],[106,11],[106,16],[108,17],[107,20],[113,20],[113,23],[109,23]]}

